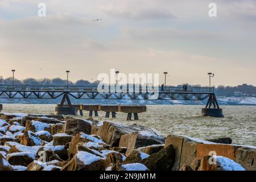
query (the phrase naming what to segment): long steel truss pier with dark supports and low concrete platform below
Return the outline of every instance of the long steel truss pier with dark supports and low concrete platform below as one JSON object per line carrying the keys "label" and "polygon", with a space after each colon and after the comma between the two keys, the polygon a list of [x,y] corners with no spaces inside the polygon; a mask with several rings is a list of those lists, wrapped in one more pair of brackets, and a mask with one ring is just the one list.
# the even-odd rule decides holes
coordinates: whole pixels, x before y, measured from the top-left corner
{"label": "long steel truss pier with dark supports and low concrete platform below", "polygon": [[[77,111],[82,114],[83,110],[89,111],[89,116],[98,115],[98,111],[105,111],[106,118],[115,117],[117,112],[127,113],[127,119],[138,119],[138,113],[146,111],[145,106],[118,106],[118,105],[72,105],[70,98],[76,100],[152,100],[151,96],[156,96],[154,100],[198,100],[203,101],[208,98],[207,105],[202,109],[203,116],[224,117],[220,109],[213,87],[191,86],[183,89],[178,86],[165,86],[164,89],[155,87],[154,92],[144,86],[127,86],[123,90],[113,90],[111,87],[104,92],[98,92],[97,86],[57,86],[57,85],[1,85],[0,98],[5,99],[56,99],[62,100],[55,109],[55,113],[64,115],[76,115]],[[144,108],[144,109],[143,109]]]}

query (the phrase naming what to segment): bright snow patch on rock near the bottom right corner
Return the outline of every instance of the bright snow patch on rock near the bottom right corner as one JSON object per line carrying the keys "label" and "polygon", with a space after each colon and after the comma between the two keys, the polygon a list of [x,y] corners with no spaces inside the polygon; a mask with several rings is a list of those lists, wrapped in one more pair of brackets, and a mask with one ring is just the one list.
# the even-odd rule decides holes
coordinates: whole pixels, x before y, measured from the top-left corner
{"label": "bright snow patch on rock near the bottom right corner", "polygon": [[225,171],[245,171],[240,164],[223,156],[213,156]]}

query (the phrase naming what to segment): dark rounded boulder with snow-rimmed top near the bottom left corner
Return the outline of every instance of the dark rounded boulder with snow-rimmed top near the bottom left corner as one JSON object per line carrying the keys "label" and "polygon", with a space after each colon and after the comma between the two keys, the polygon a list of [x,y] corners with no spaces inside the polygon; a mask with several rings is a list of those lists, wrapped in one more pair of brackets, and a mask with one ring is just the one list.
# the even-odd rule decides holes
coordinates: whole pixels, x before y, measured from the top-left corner
{"label": "dark rounded boulder with snow-rimmed top near the bottom left corner", "polygon": [[35,155],[31,152],[16,152],[8,154],[6,160],[12,166],[27,166],[35,160]]}

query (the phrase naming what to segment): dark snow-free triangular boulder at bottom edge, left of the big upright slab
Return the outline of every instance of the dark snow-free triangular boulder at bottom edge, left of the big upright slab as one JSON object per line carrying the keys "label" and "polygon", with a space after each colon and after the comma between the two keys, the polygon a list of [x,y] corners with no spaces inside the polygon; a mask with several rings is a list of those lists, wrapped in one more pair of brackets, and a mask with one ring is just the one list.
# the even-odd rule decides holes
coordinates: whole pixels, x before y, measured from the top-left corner
{"label": "dark snow-free triangular boulder at bottom edge, left of the big upright slab", "polygon": [[174,166],[175,149],[172,144],[142,160],[151,171],[171,171]]}

